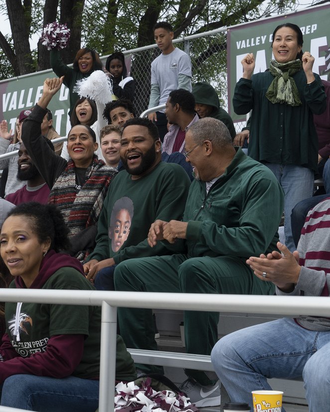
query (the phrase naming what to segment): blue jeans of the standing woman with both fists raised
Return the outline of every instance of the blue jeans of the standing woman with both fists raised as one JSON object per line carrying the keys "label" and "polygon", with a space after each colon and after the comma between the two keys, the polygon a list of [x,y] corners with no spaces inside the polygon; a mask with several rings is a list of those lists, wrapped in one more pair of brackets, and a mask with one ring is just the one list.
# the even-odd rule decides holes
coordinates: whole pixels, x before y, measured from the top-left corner
{"label": "blue jeans of the standing woman with both fists raised", "polygon": [[296,250],[291,230],[291,212],[301,200],[313,195],[314,173],[311,169],[294,164],[265,163],[276,176],[284,191],[284,234],[285,245]]}

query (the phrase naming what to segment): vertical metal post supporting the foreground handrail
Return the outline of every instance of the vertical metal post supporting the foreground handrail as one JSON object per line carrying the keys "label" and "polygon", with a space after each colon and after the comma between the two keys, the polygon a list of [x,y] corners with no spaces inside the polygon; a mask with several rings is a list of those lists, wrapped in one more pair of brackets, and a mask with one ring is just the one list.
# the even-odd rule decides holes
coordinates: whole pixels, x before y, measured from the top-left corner
{"label": "vertical metal post supporting the foreground handrail", "polygon": [[102,302],[99,412],[113,412],[116,367],[117,308]]}

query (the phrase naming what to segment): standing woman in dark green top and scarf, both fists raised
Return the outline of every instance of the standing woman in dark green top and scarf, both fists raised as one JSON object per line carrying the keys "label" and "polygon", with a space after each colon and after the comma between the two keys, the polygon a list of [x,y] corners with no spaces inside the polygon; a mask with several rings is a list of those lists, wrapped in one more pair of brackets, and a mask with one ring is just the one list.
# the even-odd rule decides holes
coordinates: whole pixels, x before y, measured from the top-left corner
{"label": "standing woman in dark green top and scarf, both fists raised", "polygon": [[303,42],[296,24],[277,26],[269,70],[252,75],[255,60],[247,54],[233,96],[235,113],[252,110],[248,154],[268,166],[284,190],[285,244],[291,252],[296,249],[291,211],[312,196],[318,166],[313,114],[320,115],[327,106],[320,76],[312,70],[314,57],[303,53]]}

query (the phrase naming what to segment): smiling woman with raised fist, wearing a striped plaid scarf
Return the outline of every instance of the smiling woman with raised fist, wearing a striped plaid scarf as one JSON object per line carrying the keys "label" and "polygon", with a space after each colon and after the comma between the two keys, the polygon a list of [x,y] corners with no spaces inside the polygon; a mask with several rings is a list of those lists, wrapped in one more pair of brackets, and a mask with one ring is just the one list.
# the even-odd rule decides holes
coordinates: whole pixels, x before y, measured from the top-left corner
{"label": "smiling woman with raised fist, wearing a striped plaid scarf", "polygon": [[63,77],[45,80],[42,96],[25,120],[22,140],[50,188],[49,203],[63,212],[70,230],[71,255],[83,261],[94,249],[96,224],[116,171],[94,154],[98,143],[95,133],[86,125],[74,126],[69,132],[69,161],[56,155],[42,138],[40,124],[62,81]]}

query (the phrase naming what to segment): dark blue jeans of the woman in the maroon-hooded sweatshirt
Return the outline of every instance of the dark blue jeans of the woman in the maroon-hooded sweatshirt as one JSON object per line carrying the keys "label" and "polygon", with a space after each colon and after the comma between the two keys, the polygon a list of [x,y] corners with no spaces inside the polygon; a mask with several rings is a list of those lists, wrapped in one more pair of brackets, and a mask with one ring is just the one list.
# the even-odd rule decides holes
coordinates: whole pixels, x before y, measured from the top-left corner
{"label": "dark blue jeans of the woman in the maroon-hooded sweatshirt", "polygon": [[39,412],[95,412],[99,381],[69,376],[13,375],[2,386],[1,406]]}

